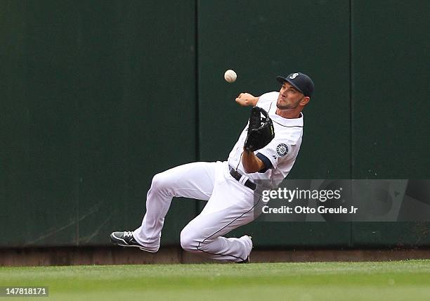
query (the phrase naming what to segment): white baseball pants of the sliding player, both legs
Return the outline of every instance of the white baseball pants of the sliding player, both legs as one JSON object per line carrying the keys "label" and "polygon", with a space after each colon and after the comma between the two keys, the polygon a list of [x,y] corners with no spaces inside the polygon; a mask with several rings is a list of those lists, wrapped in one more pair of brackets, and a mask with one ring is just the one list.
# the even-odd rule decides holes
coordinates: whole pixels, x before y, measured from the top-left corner
{"label": "white baseball pants of the sliding player, both legs", "polygon": [[252,242],[224,234],[254,220],[254,191],[230,176],[228,162],[194,162],[156,174],[146,200],[146,214],[133,237],[148,251],[159,249],[164,217],[173,197],[207,200],[202,212],[181,231],[184,250],[214,260],[246,260]]}

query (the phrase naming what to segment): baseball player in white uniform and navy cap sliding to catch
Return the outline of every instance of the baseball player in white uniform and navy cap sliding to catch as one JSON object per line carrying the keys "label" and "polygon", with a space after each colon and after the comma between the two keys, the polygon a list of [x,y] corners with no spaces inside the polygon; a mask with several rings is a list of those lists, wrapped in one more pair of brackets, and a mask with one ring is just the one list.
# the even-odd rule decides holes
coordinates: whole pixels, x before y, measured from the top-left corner
{"label": "baseball player in white uniform and navy cap sliding to catch", "polygon": [[[207,200],[202,212],[181,231],[183,250],[214,260],[249,262],[250,236],[226,238],[228,232],[252,222],[254,194],[264,180],[276,188],[292,169],[303,135],[303,114],[313,94],[312,79],[303,73],[276,77],[280,90],[259,97],[241,93],[235,101],[252,113],[228,160],[193,162],[156,174],[146,198],[146,214],[134,231],[116,231],[116,245],[157,252],[164,217],[173,197]],[[261,113],[263,118],[261,119]],[[261,198],[257,195],[257,203]]]}

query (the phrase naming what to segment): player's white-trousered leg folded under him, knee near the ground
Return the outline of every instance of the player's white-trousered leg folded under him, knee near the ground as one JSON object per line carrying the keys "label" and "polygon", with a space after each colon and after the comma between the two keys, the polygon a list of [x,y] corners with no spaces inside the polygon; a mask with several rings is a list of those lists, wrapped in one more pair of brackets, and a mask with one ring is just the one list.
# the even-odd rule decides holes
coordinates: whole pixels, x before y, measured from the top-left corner
{"label": "player's white-trousered leg folded under him, knee near the ground", "polygon": [[254,191],[224,174],[222,179],[215,180],[214,191],[202,213],[181,231],[182,248],[215,260],[246,260],[252,249],[250,238],[223,235],[252,222],[259,200],[254,201]]}

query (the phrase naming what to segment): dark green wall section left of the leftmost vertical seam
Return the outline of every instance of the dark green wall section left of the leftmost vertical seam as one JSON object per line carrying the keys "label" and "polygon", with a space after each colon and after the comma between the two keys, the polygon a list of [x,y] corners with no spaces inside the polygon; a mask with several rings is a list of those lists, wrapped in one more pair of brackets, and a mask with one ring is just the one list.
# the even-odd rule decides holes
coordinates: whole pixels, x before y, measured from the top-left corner
{"label": "dark green wall section left of the leftmost vertical seam", "polygon": [[[195,160],[195,4],[0,5],[0,245],[104,244],[135,229],[152,176]],[[178,243],[195,203],[170,213],[164,242]]]}

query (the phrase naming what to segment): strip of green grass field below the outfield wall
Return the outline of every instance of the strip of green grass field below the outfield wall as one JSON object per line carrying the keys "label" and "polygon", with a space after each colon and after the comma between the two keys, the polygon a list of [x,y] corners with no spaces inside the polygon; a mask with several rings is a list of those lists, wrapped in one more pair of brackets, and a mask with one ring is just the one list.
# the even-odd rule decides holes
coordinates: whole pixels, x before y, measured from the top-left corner
{"label": "strip of green grass field below the outfield wall", "polygon": [[0,286],[48,286],[49,300],[430,300],[430,260],[2,267]]}

